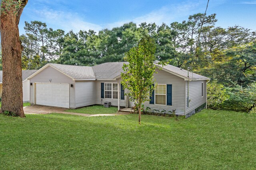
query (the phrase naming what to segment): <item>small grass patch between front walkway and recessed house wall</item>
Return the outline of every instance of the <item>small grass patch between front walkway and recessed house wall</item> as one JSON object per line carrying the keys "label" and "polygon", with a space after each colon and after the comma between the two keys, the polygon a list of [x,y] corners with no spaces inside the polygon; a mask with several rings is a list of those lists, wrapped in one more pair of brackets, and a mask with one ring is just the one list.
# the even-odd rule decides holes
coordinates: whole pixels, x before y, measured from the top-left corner
{"label": "small grass patch between front walkway and recessed house wall", "polygon": [[104,107],[101,105],[82,107],[79,109],[68,109],[65,110],[74,113],[85,113],[85,114],[110,114],[116,113],[117,107]]}

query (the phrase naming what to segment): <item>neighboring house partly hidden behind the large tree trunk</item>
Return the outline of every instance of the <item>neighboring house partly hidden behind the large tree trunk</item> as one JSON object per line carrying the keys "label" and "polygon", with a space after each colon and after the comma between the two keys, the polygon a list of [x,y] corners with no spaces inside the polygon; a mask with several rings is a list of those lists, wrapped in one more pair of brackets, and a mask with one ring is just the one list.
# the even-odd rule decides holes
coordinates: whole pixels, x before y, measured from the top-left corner
{"label": "neighboring house partly hidden behind the large tree trunk", "polygon": [[[37,70],[22,70],[22,91],[23,102],[30,102],[30,82],[26,78]],[[2,98],[3,90],[3,71],[0,71],[0,97]]]}

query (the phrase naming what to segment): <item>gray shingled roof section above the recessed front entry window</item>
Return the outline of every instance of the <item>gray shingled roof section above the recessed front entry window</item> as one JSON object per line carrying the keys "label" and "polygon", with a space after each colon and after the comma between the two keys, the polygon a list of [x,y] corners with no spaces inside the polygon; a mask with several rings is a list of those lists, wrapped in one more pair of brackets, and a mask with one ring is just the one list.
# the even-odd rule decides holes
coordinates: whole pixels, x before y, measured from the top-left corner
{"label": "gray shingled roof section above the recessed front entry window", "polygon": [[113,79],[124,72],[122,69],[124,63],[128,64],[128,62],[103,63],[92,66],[92,70],[98,79]]}

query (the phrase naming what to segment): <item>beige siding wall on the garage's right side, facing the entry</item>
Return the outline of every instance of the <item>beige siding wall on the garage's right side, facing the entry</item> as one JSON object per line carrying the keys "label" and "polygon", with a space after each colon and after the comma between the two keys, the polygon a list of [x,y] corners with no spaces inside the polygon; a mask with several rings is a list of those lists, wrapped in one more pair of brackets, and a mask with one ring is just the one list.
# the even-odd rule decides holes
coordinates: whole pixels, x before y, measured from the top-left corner
{"label": "beige siding wall on the garage's right side, facing the entry", "polygon": [[95,81],[76,81],[76,107],[95,104]]}

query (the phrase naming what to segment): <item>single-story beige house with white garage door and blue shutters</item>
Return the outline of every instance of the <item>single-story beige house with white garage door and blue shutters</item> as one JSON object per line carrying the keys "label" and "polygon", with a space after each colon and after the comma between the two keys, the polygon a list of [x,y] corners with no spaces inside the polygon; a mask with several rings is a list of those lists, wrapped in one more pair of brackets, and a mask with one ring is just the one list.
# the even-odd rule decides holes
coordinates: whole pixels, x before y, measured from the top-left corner
{"label": "single-story beige house with white garage door and blue shutters", "polygon": [[[30,103],[33,105],[78,108],[111,102],[112,106],[132,107],[124,94],[121,72],[124,62],[96,66],[75,66],[48,63],[27,79],[30,80]],[[125,62],[128,64],[127,62]],[[172,66],[159,65],[154,78],[156,90],[145,107],[172,111],[189,117],[206,107],[207,77]],[[118,95],[120,94],[120,95]]]}

